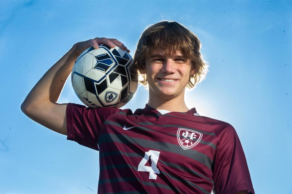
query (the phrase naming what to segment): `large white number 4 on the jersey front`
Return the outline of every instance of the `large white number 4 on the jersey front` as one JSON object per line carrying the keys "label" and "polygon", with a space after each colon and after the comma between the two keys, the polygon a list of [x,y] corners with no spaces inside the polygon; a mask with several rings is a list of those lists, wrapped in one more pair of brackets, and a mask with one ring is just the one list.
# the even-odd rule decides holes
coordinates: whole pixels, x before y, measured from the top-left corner
{"label": "large white number 4 on the jersey front", "polygon": [[[150,172],[149,179],[156,179],[157,178],[156,174],[160,174],[157,168],[157,161],[159,158],[159,154],[160,152],[155,151],[155,150],[149,150],[148,152],[145,152],[144,158],[141,160],[140,164],[138,165],[138,171]],[[149,160],[149,157],[151,159],[151,167],[145,166],[145,164]]]}

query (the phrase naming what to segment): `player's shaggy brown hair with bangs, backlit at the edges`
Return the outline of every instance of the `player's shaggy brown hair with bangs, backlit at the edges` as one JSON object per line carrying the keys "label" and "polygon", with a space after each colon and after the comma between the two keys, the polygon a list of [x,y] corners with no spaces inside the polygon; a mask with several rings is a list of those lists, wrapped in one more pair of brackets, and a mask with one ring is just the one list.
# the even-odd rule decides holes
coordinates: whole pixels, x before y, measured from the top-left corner
{"label": "player's shaggy brown hair with bangs, backlit at the edges", "polygon": [[[146,58],[158,48],[165,49],[168,54],[180,51],[187,59],[190,59],[191,69],[194,69],[195,73],[189,75],[187,88],[194,88],[205,78],[209,66],[200,53],[201,42],[182,24],[174,21],[161,21],[148,26],[141,34],[137,44],[134,54],[134,69],[144,69]],[[139,75],[142,76],[139,82],[146,86],[148,83],[146,74]]]}

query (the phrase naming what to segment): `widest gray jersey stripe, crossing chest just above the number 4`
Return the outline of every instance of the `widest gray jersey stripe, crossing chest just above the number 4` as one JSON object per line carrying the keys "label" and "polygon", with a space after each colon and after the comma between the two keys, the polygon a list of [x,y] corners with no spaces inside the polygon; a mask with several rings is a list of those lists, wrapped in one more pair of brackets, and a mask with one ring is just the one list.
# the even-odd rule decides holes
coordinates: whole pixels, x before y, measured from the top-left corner
{"label": "widest gray jersey stripe, crossing chest just above the number 4", "polygon": [[[111,139],[108,137],[110,136]],[[139,139],[139,138],[134,138],[130,137],[127,135],[122,135],[122,134],[102,134],[99,135],[99,145],[102,143],[107,143],[107,142],[118,142],[118,143],[132,143],[132,144],[137,144],[142,147],[147,147],[147,148],[152,148],[152,149],[158,149],[161,151],[166,151],[166,152],[173,152],[182,156],[186,156],[189,158],[192,158],[203,165],[207,166],[209,169],[211,169],[212,166],[212,159],[210,159],[207,155],[198,152],[193,149],[185,149],[182,150],[182,148],[179,145],[171,144],[171,143],[166,143],[166,142],[156,142],[156,141],[151,141],[151,140],[146,140],[146,139]]]}

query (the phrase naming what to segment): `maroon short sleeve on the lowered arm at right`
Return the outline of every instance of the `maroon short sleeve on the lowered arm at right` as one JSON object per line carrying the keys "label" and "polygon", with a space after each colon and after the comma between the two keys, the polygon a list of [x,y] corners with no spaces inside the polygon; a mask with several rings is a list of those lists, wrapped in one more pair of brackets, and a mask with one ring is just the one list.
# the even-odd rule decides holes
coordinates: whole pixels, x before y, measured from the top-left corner
{"label": "maroon short sleeve on the lowered arm at right", "polygon": [[[215,132],[216,133],[216,132]],[[255,193],[242,145],[235,129],[228,125],[217,132],[217,150],[213,161],[214,193]]]}

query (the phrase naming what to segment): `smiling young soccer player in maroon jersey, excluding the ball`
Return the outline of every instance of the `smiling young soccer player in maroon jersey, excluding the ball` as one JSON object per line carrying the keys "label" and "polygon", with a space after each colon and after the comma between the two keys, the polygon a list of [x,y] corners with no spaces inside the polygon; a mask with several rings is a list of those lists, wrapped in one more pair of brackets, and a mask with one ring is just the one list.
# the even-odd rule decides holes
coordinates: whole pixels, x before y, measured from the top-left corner
{"label": "smiling young soccer player in maroon jersey, excluding the ball", "polygon": [[[31,119],[99,150],[99,193],[254,193],[235,129],[200,116],[184,102],[185,88],[204,77],[200,41],[177,22],[147,28],[134,65],[149,86],[144,109],[58,104],[65,80],[85,49],[116,39],[76,43],[34,86],[21,109]],[[129,52],[129,50],[127,50]],[[41,103],[40,103],[41,102]],[[41,104],[41,106],[40,106]],[[43,109],[46,107],[46,109]]]}

